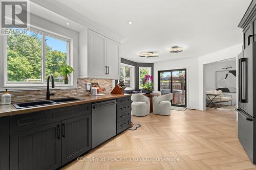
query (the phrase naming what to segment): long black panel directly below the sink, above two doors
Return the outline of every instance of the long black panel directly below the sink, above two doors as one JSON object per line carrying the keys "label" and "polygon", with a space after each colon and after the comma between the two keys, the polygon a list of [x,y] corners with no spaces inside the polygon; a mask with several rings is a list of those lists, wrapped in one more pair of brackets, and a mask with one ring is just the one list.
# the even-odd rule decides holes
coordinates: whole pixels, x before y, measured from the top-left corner
{"label": "long black panel directly below the sink, above two doors", "polygon": [[76,105],[10,116],[10,133],[91,113],[91,104]]}

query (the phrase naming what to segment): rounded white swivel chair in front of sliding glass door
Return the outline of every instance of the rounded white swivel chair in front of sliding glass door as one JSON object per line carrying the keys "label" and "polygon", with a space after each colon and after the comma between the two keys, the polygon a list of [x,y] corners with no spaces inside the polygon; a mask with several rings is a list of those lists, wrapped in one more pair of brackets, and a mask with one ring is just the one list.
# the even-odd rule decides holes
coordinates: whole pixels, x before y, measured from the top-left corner
{"label": "rounded white swivel chair in front of sliding glass door", "polygon": [[165,94],[154,98],[153,112],[154,114],[170,115],[170,100],[173,99],[173,94]]}

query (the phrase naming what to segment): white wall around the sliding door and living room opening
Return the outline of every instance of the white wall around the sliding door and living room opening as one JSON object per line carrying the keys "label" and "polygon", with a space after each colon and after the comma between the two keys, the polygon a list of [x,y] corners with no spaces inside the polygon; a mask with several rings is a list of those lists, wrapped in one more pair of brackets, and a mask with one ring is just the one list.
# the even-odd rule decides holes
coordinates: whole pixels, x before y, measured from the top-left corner
{"label": "white wall around the sliding door and living room opening", "polygon": [[[159,70],[187,68],[187,107],[205,110],[205,64],[237,58],[241,52],[242,44],[238,44],[200,57],[154,63],[154,90],[158,90]],[[236,98],[238,99],[238,96]]]}

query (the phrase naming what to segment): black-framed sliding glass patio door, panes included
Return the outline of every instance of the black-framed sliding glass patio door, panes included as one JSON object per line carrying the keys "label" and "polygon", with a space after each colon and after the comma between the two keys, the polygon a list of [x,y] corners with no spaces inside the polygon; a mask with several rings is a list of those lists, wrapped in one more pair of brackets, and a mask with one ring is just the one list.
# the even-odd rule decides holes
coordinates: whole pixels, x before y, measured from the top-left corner
{"label": "black-framed sliding glass patio door, panes included", "polygon": [[172,106],[186,107],[186,69],[158,71],[158,90],[173,93]]}

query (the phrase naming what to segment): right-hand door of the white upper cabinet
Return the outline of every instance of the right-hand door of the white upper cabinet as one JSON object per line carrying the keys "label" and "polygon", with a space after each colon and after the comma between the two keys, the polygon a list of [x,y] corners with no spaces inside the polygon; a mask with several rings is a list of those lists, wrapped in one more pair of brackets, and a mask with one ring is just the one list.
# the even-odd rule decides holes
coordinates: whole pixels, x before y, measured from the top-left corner
{"label": "right-hand door of the white upper cabinet", "polygon": [[120,44],[111,39],[106,40],[108,77],[120,79]]}

